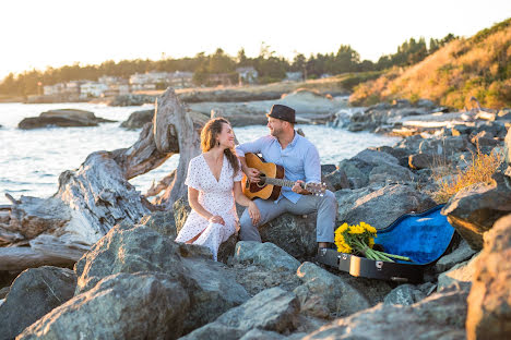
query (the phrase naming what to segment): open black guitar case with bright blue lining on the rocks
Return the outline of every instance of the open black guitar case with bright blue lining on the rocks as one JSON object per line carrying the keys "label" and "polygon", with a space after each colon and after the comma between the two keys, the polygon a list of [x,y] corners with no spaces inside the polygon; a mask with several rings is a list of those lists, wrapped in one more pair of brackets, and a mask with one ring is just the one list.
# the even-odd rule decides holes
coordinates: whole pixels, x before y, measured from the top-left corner
{"label": "open black guitar case with bright blue lining on the rocks", "polygon": [[425,267],[445,253],[454,235],[454,228],[440,214],[442,207],[438,205],[420,214],[403,215],[389,227],[378,230],[376,244],[381,244],[385,253],[407,256],[412,262],[373,260],[332,248],[320,248],[317,260],[355,277],[421,282]]}

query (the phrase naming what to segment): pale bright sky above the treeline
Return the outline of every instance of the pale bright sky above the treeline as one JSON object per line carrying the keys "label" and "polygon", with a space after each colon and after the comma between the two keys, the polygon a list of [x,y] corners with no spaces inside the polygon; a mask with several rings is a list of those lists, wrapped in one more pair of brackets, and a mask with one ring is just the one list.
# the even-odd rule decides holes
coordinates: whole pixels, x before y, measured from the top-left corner
{"label": "pale bright sky above the treeline", "polygon": [[0,2],[0,78],[106,60],[193,57],[221,47],[292,60],[350,45],[377,61],[414,37],[470,37],[511,17],[510,0],[16,0]]}

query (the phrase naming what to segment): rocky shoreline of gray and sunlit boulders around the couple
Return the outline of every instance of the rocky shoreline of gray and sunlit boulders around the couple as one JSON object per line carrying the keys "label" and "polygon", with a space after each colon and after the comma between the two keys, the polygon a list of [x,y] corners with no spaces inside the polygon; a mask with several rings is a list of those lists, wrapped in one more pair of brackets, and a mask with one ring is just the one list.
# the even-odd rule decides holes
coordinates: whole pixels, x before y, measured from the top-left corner
{"label": "rocky shoreline of gray and sunlit boulders around the couple", "polygon": [[[338,202],[337,223],[384,228],[437,205],[432,193],[441,179],[433,172],[466,169],[477,149],[503,158],[492,182],[460,191],[443,207],[456,233],[419,284],[355,278],[317,263],[314,215],[262,226],[264,243],[234,235],[215,263],[207,248],[171,241],[190,211],[182,197],[171,210],[118,223],[73,270],[23,271],[2,290],[9,294],[0,319],[8,327],[0,339],[503,338],[511,331],[509,113],[479,110],[447,120],[430,102],[396,101],[337,114],[334,122],[350,130],[409,130],[393,147],[322,166]],[[420,117],[444,124],[424,126],[433,120]]]}

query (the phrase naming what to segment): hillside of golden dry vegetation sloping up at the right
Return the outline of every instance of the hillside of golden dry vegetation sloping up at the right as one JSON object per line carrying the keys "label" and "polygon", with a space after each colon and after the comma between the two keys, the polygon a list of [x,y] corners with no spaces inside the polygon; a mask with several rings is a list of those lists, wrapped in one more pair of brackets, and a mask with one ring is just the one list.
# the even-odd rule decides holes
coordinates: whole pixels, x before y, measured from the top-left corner
{"label": "hillside of golden dry vegetation sloping up at the right", "polygon": [[421,62],[393,69],[359,85],[354,105],[395,98],[431,99],[439,105],[471,108],[476,97],[483,107],[511,106],[511,19],[468,39],[456,39]]}

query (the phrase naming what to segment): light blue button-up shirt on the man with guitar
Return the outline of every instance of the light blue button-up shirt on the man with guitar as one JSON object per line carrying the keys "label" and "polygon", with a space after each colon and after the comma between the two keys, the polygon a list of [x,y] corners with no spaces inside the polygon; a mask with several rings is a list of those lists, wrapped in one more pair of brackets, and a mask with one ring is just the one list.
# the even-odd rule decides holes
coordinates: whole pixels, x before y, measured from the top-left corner
{"label": "light blue button-up shirt on the man with guitar", "polygon": [[[306,137],[300,136],[295,131],[295,137],[285,149],[282,148],[278,139],[272,135],[258,138],[252,142],[240,144],[236,147],[236,153],[245,157],[246,153],[261,154],[266,162],[284,167],[284,178],[289,181],[301,180],[306,183],[321,182],[321,162],[318,149]],[[297,203],[301,195],[293,192],[290,187],[283,187],[281,196],[293,203]]]}

